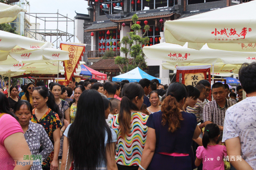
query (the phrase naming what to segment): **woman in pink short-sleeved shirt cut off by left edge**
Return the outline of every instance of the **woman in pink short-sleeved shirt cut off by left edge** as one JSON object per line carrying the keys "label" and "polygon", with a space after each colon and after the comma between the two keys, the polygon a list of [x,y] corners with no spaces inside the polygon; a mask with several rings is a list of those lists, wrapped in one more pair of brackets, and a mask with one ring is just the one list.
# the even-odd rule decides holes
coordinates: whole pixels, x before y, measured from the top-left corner
{"label": "woman in pink short-sleeved shirt cut off by left edge", "polygon": [[[0,169],[29,170],[24,155],[31,155],[29,146],[23,136],[23,130],[10,112],[10,104],[4,93],[0,92]],[[22,162],[25,166],[17,165]]]}

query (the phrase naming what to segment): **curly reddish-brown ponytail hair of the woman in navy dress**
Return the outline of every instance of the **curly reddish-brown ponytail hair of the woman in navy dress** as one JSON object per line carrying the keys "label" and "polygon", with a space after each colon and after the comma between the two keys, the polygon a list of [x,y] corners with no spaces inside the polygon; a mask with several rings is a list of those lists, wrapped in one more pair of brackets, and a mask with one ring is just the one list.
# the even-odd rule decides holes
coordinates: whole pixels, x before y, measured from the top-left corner
{"label": "curly reddish-brown ponytail hair of the woman in navy dress", "polygon": [[182,114],[180,113],[179,102],[188,97],[186,87],[180,82],[174,82],[169,85],[166,98],[161,106],[162,114],[162,125],[164,126],[167,122],[169,132],[174,132],[180,127],[180,121],[183,120]]}

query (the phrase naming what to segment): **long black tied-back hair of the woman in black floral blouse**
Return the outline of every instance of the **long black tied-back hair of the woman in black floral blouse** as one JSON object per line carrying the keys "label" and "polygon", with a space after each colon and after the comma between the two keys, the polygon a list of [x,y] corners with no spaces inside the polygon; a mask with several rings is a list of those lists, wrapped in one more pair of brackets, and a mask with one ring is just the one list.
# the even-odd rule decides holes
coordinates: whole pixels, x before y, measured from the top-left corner
{"label": "long black tied-back hair of the woman in black floral blouse", "polygon": [[44,97],[44,98],[48,97],[48,100],[46,102],[47,107],[52,109],[52,111],[54,111],[55,113],[57,113],[59,118],[61,119],[63,116],[62,116],[62,114],[60,112],[60,108],[56,104],[54,96],[53,96],[53,94],[51,92],[49,92],[48,88],[46,86],[38,86],[34,90],[37,90],[38,93],[42,97]]}

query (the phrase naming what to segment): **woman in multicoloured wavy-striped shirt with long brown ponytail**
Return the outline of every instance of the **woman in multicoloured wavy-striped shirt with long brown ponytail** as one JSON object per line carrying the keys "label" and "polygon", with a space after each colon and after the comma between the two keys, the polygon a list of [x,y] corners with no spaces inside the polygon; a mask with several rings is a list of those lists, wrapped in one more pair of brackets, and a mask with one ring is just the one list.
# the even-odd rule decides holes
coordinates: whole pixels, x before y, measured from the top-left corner
{"label": "woman in multicoloured wavy-striped shirt with long brown ponytail", "polygon": [[117,134],[116,163],[118,170],[138,170],[147,138],[148,115],[140,111],[144,90],[138,83],[129,83],[122,94],[120,112],[108,123]]}

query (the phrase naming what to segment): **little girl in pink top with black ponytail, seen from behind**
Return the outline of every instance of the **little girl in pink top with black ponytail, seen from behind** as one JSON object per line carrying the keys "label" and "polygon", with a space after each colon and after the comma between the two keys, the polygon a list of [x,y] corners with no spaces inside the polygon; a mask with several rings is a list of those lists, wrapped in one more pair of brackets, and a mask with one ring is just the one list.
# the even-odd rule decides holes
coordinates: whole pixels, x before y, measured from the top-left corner
{"label": "little girl in pink top with black ponytail, seen from behind", "polygon": [[224,170],[223,158],[227,155],[226,146],[217,143],[220,130],[217,124],[207,124],[204,129],[203,146],[196,150],[195,165],[203,163],[203,170]]}

